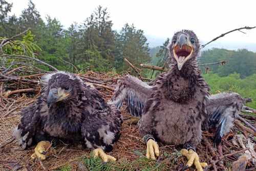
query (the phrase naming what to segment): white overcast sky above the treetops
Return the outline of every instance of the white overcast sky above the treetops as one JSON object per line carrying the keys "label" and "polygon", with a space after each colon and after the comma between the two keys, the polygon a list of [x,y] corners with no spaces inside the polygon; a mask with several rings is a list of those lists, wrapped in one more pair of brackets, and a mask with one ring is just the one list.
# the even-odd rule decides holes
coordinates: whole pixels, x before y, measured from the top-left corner
{"label": "white overcast sky above the treetops", "polygon": [[[13,3],[11,14],[19,16],[29,0],[7,0]],[[181,29],[194,30],[199,39],[209,41],[227,31],[256,26],[256,1],[140,1],[140,0],[33,0],[43,19],[56,17],[65,28],[73,22],[81,23],[101,5],[108,8],[113,29],[125,23],[134,24],[145,35],[172,37]],[[218,41],[256,43],[256,29],[230,33]]]}

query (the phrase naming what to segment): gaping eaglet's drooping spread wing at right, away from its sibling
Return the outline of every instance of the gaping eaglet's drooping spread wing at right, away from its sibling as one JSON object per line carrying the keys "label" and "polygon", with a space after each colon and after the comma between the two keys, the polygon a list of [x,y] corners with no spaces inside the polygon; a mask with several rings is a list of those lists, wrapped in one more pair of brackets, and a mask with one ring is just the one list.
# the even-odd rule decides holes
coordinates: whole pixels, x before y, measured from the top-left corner
{"label": "gaping eaglet's drooping spread wing at right, away from its sibling", "polygon": [[243,98],[233,92],[219,93],[208,98],[208,127],[217,127],[215,142],[219,144],[221,137],[233,127],[243,107]]}

